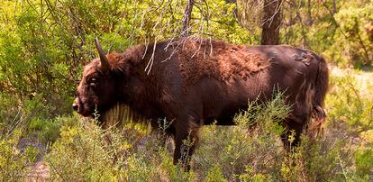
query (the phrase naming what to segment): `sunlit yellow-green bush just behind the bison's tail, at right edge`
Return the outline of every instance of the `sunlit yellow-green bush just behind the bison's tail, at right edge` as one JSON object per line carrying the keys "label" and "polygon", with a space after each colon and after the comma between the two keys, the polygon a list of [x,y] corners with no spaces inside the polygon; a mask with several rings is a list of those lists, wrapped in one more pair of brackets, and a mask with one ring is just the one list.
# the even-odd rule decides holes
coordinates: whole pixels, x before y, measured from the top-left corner
{"label": "sunlit yellow-green bush just behind the bison's tail, at right edge", "polygon": [[[327,97],[328,113],[331,123],[347,123],[348,132],[364,132],[372,129],[373,99],[371,97],[371,87],[367,83],[365,86],[359,85],[353,72],[347,72],[342,77],[332,77],[332,89]],[[370,79],[370,77],[367,77]],[[361,80],[360,80],[361,81]],[[361,90],[359,90],[359,87]]]}

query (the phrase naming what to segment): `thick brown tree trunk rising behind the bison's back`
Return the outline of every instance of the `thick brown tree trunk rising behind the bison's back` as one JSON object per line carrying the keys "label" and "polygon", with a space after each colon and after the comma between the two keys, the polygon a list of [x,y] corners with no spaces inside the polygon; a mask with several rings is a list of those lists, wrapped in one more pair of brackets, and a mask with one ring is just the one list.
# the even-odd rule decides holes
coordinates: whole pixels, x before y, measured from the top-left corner
{"label": "thick brown tree trunk rising behind the bison's back", "polygon": [[282,0],[264,0],[261,44],[279,44],[279,28],[281,25]]}

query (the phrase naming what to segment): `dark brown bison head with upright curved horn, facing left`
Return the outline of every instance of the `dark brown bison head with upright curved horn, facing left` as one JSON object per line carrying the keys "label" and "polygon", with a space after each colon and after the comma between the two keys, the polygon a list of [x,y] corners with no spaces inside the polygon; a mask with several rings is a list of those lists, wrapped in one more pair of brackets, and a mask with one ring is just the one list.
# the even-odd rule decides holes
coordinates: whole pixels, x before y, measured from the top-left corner
{"label": "dark brown bison head with upright curved horn, facing left", "polygon": [[110,58],[107,58],[96,39],[96,48],[100,58],[93,59],[86,65],[83,77],[77,86],[76,98],[72,105],[78,114],[93,116],[105,112],[114,105],[117,94],[115,75],[111,68]]}

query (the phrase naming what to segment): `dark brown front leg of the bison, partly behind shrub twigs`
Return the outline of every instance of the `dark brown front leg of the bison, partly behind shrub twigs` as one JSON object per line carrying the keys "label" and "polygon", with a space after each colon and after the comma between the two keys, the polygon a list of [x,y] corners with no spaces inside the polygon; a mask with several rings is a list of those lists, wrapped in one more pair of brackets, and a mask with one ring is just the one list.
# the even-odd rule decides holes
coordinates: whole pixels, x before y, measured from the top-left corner
{"label": "dark brown front leg of the bison, partly behind shrub twigs", "polygon": [[184,168],[189,170],[190,159],[199,142],[199,130],[202,125],[197,124],[196,120],[177,122],[179,123],[175,124],[174,164],[180,163]]}

